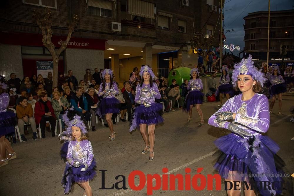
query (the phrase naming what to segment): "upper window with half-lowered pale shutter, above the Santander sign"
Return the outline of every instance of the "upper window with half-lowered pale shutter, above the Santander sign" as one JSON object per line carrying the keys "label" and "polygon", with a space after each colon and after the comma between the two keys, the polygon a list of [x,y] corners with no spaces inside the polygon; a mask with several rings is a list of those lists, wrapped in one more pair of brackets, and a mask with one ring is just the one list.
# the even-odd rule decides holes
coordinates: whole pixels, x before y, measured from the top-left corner
{"label": "upper window with half-lowered pale shutter, above the Santander sign", "polygon": [[112,2],[106,0],[89,0],[88,11],[92,16],[112,18]]}

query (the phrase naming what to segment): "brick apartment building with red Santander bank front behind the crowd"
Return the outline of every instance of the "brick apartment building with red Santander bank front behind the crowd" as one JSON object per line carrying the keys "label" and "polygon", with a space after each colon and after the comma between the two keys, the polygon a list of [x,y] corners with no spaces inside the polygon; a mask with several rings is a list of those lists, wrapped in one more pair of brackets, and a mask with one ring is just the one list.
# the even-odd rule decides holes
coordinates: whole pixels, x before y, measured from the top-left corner
{"label": "brick apartment building with red Santander bank front behind the crowd", "polygon": [[0,74],[31,76],[36,61],[52,60],[33,21],[34,11],[46,7],[56,48],[66,38],[67,21],[79,17],[59,59],[59,72],[73,70],[78,79],[86,68],[112,68],[124,81],[142,64],[156,73],[182,63],[193,67],[197,54],[185,46],[196,33],[213,35],[215,47],[219,43],[219,0],[10,0],[0,7]]}

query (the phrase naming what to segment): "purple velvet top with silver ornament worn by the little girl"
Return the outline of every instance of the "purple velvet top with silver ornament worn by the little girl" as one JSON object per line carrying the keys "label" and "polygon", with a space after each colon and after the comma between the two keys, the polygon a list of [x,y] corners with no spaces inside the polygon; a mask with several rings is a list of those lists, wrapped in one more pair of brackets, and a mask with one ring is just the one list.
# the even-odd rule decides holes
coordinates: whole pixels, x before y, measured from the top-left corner
{"label": "purple velvet top with silver ornament worn by the little girl", "polygon": [[91,165],[94,158],[93,149],[89,140],[70,141],[66,159],[70,165],[77,161],[82,164]]}

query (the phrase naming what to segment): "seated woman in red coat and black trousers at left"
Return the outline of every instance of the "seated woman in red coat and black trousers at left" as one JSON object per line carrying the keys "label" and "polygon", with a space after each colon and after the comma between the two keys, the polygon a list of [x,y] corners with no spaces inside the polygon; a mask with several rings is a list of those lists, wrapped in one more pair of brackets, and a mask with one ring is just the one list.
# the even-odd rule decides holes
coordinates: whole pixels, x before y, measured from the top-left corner
{"label": "seated woman in red coat and black trousers at left", "polygon": [[37,125],[40,124],[42,138],[46,137],[46,121],[51,124],[51,135],[55,137],[56,117],[46,91],[41,92],[40,100],[35,104],[35,120]]}

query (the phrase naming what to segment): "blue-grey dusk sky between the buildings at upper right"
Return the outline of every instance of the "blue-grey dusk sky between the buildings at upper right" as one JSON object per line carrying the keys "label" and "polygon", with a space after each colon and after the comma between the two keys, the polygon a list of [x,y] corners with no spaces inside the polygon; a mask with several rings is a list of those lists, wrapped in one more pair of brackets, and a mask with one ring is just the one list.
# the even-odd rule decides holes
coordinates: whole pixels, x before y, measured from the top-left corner
{"label": "blue-grey dusk sky between the buildings at upper right", "polygon": [[[292,6],[294,6],[293,0],[270,0],[270,11],[289,10],[292,9]],[[225,0],[223,10],[225,11],[224,30],[234,29],[234,31],[225,33],[227,38],[225,44],[229,46],[233,43],[235,46],[240,46],[240,50],[243,50],[245,35],[243,27],[245,20],[243,18],[251,12],[268,11],[268,0]],[[237,53],[239,51],[234,52],[234,54]]]}

